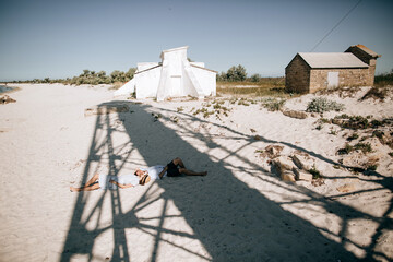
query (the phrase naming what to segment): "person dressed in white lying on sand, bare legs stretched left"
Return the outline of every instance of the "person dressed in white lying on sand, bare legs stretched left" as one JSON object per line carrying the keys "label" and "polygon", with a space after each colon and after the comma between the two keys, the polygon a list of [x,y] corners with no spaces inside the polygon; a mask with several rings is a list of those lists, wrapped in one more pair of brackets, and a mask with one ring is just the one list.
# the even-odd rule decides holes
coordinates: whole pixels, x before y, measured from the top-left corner
{"label": "person dressed in white lying on sand, bare legs stretched left", "polygon": [[[143,181],[142,181],[143,180]],[[121,189],[132,188],[138,184],[144,186],[150,181],[150,177],[147,175],[138,177],[134,174],[128,174],[122,176],[110,176],[110,175],[94,175],[91,180],[86,182],[84,187],[74,188],[70,187],[72,192],[80,192],[80,191],[93,191],[96,189],[108,189],[110,188],[109,183],[118,186]]]}

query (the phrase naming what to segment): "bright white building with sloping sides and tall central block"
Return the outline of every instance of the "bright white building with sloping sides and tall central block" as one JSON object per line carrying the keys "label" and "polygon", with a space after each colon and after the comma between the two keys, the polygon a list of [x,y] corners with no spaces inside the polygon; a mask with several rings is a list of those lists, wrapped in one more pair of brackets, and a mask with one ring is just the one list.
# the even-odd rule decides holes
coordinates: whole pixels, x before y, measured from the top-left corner
{"label": "bright white building with sloping sides and tall central block", "polygon": [[204,68],[202,62],[189,62],[188,47],[164,50],[160,63],[138,63],[134,78],[115,92],[115,95],[127,95],[135,92],[136,98],[156,97],[164,100],[168,97],[215,96],[216,71]]}

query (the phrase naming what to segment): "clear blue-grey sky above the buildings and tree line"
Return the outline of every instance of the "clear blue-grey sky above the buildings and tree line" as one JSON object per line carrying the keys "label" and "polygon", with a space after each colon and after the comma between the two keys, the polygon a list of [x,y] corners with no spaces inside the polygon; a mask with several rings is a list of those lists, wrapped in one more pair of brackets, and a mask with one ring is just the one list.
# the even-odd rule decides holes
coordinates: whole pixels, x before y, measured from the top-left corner
{"label": "clear blue-grey sky above the buildings and tree line", "polygon": [[[0,81],[108,74],[158,62],[162,50],[218,72],[242,64],[249,75],[284,75],[358,0],[0,0]],[[393,1],[362,0],[314,50],[362,44],[393,69]]]}

